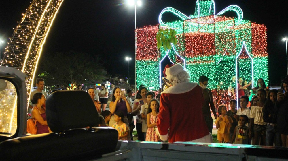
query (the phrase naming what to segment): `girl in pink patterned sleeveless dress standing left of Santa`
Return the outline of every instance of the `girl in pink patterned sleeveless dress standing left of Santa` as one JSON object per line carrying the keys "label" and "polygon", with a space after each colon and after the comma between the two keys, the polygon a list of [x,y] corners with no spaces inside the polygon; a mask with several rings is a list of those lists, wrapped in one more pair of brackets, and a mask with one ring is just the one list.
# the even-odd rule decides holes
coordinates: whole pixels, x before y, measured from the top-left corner
{"label": "girl in pink patterned sleeveless dress standing left of Santa", "polygon": [[153,99],[149,103],[148,114],[147,114],[147,133],[146,141],[160,141],[159,136],[156,135],[154,127],[156,127],[156,121],[159,113],[159,103],[156,99]]}

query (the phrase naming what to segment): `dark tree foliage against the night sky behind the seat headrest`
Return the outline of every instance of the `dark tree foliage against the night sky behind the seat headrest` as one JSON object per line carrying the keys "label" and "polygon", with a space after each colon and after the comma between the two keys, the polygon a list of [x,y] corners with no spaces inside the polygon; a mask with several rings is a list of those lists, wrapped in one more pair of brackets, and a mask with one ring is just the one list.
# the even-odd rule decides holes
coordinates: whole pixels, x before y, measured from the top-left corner
{"label": "dark tree foliage against the night sky behind the seat headrest", "polygon": [[97,56],[69,51],[64,53],[46,53],[40,60],[38,77],[45,84],[91,84],[106,79],[105,70]]}

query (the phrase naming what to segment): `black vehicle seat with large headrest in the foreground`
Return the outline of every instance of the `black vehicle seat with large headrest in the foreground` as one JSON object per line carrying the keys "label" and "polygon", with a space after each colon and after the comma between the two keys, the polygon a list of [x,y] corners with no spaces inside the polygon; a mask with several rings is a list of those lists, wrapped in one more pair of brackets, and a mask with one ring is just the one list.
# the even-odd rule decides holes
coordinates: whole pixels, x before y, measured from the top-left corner
{"label": "black vehicle seat with large headrest in the foreground", "polygon": [[46,100],[46,116],[53,133],[3,141],[0,143],[1,158],[11,161],[90,160],[115,151],[118,131],[95,127],[99,124],[99,114],[87,92],[53,92]]}

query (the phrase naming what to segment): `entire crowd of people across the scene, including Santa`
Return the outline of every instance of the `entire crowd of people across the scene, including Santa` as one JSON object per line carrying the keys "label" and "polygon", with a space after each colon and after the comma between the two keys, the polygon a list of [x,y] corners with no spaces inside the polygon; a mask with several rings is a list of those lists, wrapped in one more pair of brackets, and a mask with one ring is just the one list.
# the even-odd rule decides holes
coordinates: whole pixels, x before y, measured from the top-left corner
{"label": "entire crowd of people across the scene, including Santa", "polygon": [[[90,95],[97,112],[100,114],[100,124],[98,126],[115,128],[118,131],[119,140],[133,140],[132,131],[136,127],[139,141],[162,141],[167,139],[169,139],[169,142],[179,141],[179,139],[180,141],[199,141],[199,138],[204,138],[206,140],[204,142],[210,142],[209,139],[212,138],[210,136],[213,129],[212,111],[216,119],[219,143],[288,146],[288,77],[282,80],[282,92],[281,90],[268,90],[262,78],[257,80],[257,87],[250,90],[251,81],[247,83],[246,80],[240,77],[238,78],[238,86],[235,87],[237,88],[235,90],[238,90],[238,98],[232,98],[229,101],[229,106],[220,104],[216,111],[212,91],[207,88],[209,78],[202,75],[199,77],[198,83],[190,83],[190,76],[186,74],[187,72],[183,70],[182,66],[182,69],[178,66],[175,65],[170,70],[167,68],[167,71],[170,72],[167,73],[166,71],[167,78],[172,80],[171,87],[162,93],[159,89],[156,96],[154,92],[141,85],[135,95],[134,102],[132,102],[132,90],[126,90],[127,96],[125,97],[121,88],[112,84],[109,110],[105,109],[109,93],[105,84],[101,84],[101,90],[96,89],[96,84],[93,85],[94,88],[88,88],[86,92]],[[171,74],[174,72],[173,70],[177,71],[176,76]],[[181,76],[179,76],[179,73],[181,73]],[[175,79],[174,82],[173,79]],[[182,87],[183,85],[185,85],[185,88]],[[48,133],[51,131],[46,121],[45,101],[47,93],[44,90],[44,79],[38,78],[36,86],[37,89],[31,92],[32,99],[29,104],[30,111],[28,110],[28,112],[31,112],[32,117],[37,120],[37,134]],[[61,89],[60,86],[59,89]],[[78,87],[78,89],[82,90],[81,87]],[[190,92],[191,94],[189,94]],[[229,92],[230,96],[236,93],[231,86],[230,91],[228,88],[228,95]],[[172,98],[176,100],[173,101]],[[182,98],[184,101],[181,100]],[[190,98],[197,99],[188,102]],[[179,102],[177,102],[177,99]],[[239,104],[238,107],[237,103]],[[176,115],[175,113],[180,114],[179,110],[183,110],[180,108],[182,104],[183,106],[189,104],[192,108],[185,109],[186,111],[181,114],[183,116]],[[198,105],[200,107],[196,107]],[[178,107],[174,109],[174,106]],[[228,107],[231,109],[227,110]],[[165,113],[167,111],[168,113]],[[135,125],[133,116],[136,116]],[[180,131],[180,126],[184,126],[182,121],[185,121],[185,119],[192,119],[191,127],[200,129],[192,128],[192,131],[187,131],[187,128],[184,128],[182,133],[186,133],[187,136],[185,137],[187,138],[183,140],[185,137],[182,135],[180,137],[175,131]],[[171,120],[175,123],[171,123]],[[164,123],[164,121],[167,123]],[[165,129],[165,132],[163,132],[163,129]],[[195,133],[195,131],[200,132]]]}

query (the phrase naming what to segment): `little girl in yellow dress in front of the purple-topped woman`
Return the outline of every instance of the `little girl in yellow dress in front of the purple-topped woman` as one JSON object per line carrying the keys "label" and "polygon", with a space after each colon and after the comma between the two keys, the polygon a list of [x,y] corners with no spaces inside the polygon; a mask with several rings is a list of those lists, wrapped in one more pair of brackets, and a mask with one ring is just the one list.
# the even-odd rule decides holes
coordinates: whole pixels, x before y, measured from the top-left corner
{"label": "little girl in yellow dress in front of the purple-topped woman", "polygon": [[118,131],[118,140],[131,140],[128,139],[130,131],[128,125],[124,123],[124,113],[122,111],[117,111],[114,113],[114,117],[115,123],[112,127]]}

